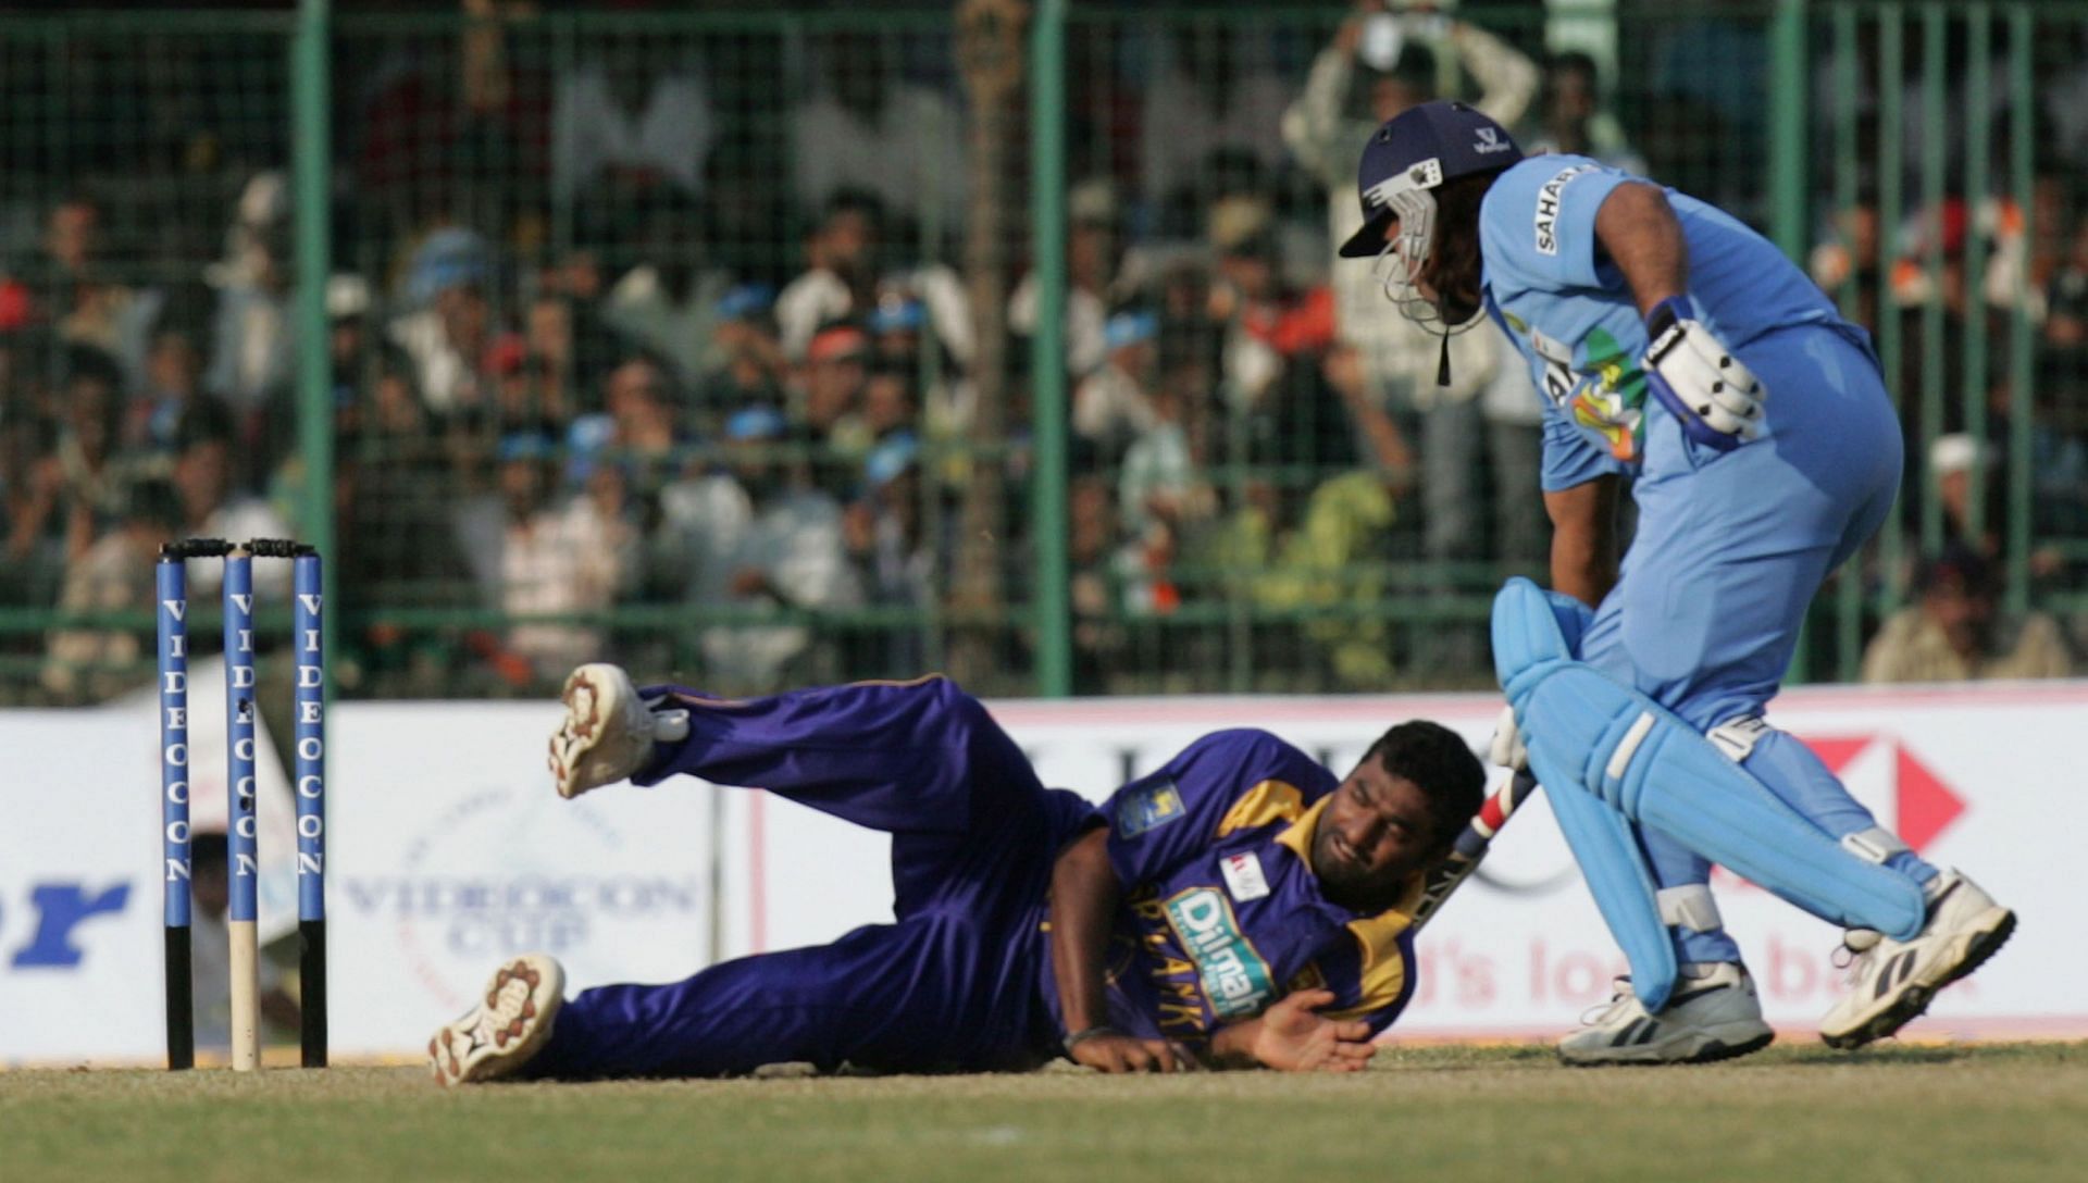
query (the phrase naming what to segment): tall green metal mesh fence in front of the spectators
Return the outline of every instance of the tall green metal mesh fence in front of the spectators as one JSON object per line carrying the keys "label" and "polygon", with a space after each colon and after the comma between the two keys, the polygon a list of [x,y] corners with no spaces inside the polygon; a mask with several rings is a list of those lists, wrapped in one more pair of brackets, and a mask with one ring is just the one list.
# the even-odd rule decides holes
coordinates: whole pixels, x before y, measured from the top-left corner
{"label": "tall green metal mesh fence in front of the spectators", "polygon": [[353,695],[1487,684],[1535,396],[1491,334],[1437,390],[1330,257],[1437,94],[1873,328],[1906,497],[1800,676],[1952,542],[2071,622],[2084,48],[2004,2],[0,17],[0,693],[144,684],[152,542],[292,526]]}

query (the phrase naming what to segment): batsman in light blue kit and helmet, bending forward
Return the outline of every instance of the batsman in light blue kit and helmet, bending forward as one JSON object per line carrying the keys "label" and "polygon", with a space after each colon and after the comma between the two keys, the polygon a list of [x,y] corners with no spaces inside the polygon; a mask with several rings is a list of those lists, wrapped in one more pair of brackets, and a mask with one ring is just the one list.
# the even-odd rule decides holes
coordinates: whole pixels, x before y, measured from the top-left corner
{"label": "batsman in light blue kit and helmet, bending forward", "polygon": [[[1718,1060],[1773,1033],[1708,872],[1842,924],[1835,1047],[1898,1031],[2015,926],[1769,726],[1821,582],[1885,520],[1900,426],[1869,336],[1758,234],[1585,156],[1528,156],[1460,102],[1382,125],[1363,227],[1397,309],[1491,317],[1543,401],[1551,593],[1495,603],[1495,759],[1545,784],[1633,979],[1560,1054]],[[1447,367],[1445,351],[1445,367]],[[1618,557],[1624,484],[1637,534]]]}

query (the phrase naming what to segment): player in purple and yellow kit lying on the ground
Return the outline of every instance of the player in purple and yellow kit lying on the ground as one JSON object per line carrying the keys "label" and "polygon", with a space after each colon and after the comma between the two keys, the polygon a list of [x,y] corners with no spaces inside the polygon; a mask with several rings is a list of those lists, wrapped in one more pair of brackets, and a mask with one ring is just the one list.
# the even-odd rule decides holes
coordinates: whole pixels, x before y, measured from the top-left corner
{"label": "player in purple and yellow kit lying on the ground", "polygon": [[1414,991],[1414,908],[1485,784],[1430,722],[1391,728],[1347,780],[1226,730],[1094,807],[1040,784],[948,678],[720,701],[614,666],[568,678],[551,772],[566,797],[689,774],[885,830],[896,922],[572,999],[557,962],[514,958],[430,1039],[445,1085],[1059,1056],[1357,1070]]}

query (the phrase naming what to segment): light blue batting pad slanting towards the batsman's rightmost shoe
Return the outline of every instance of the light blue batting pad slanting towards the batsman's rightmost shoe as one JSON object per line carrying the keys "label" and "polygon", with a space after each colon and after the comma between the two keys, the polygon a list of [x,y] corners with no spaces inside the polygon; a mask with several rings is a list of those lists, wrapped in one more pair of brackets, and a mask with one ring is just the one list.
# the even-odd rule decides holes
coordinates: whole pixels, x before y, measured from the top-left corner
{"label": "light blue batting pad slanting towards the batsman's rightmost shoe", "polygon": [[1660,703],[1572,659],[1537,584],[1495,597],[1493,661],[1543,784],[1574,784],[1821,920],[1921,931],[1915,880],[1848,853]]}

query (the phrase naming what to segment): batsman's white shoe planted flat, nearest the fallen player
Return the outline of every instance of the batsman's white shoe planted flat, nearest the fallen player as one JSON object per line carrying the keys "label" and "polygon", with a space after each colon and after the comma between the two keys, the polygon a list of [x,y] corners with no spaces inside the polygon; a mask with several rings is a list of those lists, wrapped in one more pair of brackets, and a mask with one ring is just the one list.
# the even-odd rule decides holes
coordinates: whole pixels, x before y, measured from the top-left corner
{"label": "batsman's white shoe planted flat, nearest the fallen player", "polygon": [[1631,993],[1631,979],[1616,979],[1610,1004],[1560,1039],[1560,1060],[1593,1064],[1710,1064],[1769,1047],[1777,1037],[1762,1022],[1754,979],[1731,962],[1683,966],[1675,993],[1658,1014]]}

